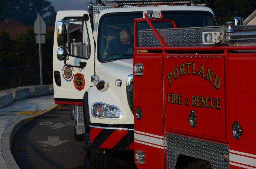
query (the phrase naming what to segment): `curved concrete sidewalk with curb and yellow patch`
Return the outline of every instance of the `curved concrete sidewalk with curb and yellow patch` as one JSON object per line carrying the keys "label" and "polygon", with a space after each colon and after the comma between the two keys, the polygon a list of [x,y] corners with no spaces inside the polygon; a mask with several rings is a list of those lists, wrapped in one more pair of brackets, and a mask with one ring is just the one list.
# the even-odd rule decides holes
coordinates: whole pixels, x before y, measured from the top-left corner
{"label": "curved concrete sidewalk with curb and yellow patch", "polygon": [[15,101],[0,109],[1,169],[19,168],[11,154],[14,134],[27,122],[56,106],[54,95],[46,95]]}

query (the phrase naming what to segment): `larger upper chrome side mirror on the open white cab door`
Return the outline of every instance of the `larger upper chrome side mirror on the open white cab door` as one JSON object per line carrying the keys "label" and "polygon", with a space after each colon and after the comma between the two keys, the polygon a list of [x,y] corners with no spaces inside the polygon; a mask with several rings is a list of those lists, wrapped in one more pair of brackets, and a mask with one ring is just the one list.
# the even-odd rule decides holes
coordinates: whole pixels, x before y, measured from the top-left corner
{"label": "larger upper chrome side mirror on the open white cab door", "polygon": [[[57,29],[56,31],[57,31],[58,47],[64,47],[64,44],[66,45],[66,47],[68,47],[69,34],[68,34],[67,22],[64,22],[64,25],[63,25],[63,21],[58,21],[56,29]],[[64,36],[65,36],[65,42],[64,42]]]}

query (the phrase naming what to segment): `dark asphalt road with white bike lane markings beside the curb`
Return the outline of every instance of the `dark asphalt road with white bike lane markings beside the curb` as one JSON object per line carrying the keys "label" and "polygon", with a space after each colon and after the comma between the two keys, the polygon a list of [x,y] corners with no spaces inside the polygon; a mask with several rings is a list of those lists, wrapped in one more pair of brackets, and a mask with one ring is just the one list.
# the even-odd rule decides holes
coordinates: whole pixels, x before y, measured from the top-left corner
{"label": "dark asphalt road with white bike lane markings beside the curb", "polygon": [[[21,169],[86,168],[83,141],[75,141],[70,106],[56,107],[24,125],[14,136],[12,154]],[[133,152],[116,154],[113,169],[136,168]]]}

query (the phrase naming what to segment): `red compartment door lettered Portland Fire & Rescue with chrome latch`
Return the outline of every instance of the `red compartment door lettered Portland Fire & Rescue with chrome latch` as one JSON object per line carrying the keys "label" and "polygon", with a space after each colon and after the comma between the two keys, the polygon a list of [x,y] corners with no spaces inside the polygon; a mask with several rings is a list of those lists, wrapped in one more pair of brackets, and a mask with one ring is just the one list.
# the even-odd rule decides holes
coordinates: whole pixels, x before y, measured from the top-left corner
{"label": "red compartment door lettered Portland Fire & Rescue with chrome latch", "polygon": [[224,56],[164,57],[165,127],[226,139]]}

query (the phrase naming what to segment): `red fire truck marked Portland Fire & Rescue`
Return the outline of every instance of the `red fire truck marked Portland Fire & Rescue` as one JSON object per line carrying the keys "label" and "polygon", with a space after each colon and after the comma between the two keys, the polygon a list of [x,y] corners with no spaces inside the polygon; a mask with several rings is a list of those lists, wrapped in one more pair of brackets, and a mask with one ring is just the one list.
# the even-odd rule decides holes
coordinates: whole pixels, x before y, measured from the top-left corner
{"label": "red fire truck marked Portland Fire & Rescue", "polygon": [[256,26],[156,30],[153,13],[134,20],[137,167],[256,168]]}

